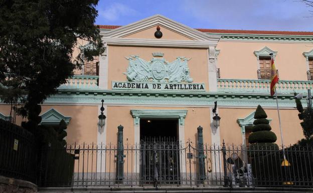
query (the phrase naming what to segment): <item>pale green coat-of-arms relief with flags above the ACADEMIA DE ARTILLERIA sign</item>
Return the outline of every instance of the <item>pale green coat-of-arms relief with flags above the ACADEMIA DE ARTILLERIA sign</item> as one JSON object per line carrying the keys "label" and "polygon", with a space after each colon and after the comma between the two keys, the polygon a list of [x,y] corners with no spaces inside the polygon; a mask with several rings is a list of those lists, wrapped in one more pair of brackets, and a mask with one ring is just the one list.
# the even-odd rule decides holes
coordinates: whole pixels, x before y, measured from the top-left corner
{"label": "pale green coat-of-arms relief with flags above the ACADEMIA DE ARTILLERIA sign", "polygon": [[177,57],[173,62],[167,62],[164,58],[152,58],[145,61],[139,56],[125,57],[129,63],[127,72],[128,81],[136,82],[193,82],[190,77],[188,61],[190,58]]}

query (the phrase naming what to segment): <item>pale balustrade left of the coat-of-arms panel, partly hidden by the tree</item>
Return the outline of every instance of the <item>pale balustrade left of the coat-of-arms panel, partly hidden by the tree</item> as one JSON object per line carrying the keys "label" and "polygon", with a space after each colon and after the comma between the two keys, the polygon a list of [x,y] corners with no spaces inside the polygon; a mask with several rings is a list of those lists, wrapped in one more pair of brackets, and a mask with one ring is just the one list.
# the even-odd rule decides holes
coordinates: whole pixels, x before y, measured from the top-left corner
{"label": "pale balustrade left of the coat-of-arms panel, partly hidden by the tree", "polygon": [[98,88],[99,76],[74,75],[67,79],[67,83],[59,88],[82,88],[95,89]]}

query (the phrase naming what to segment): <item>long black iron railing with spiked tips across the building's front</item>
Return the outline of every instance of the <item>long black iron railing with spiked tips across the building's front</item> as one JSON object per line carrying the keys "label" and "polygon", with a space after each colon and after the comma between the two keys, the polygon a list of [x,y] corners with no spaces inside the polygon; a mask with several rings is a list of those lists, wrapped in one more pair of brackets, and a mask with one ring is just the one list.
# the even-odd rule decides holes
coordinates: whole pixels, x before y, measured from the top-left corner
{"label": "long black iron railing with spiked tips across the building's front", "polygon": [[205,144],[198,149],[191,141],[125,144],[122,165],[117,161],[119,150],[113,144],[67,145],[67,152],[75,154],[74,173],[70,182],[58,185],[313,187],[312,147],[285,148],[289,165],[282,165],[282,151],[271,146]]}

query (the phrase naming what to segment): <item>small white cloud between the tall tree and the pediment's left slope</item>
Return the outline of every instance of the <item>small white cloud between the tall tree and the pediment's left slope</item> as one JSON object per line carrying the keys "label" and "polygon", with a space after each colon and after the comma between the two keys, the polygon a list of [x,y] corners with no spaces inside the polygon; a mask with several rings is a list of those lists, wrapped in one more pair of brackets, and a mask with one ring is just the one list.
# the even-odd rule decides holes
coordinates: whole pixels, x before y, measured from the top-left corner
{"label": "small white cloud between the tall tree and the pediment's left slope", "polygon": [[98,8],[99,16],[107,21],[117,21],[121,16],[133,16],[136,11],[120,3],[114,2],[106,9]]}

